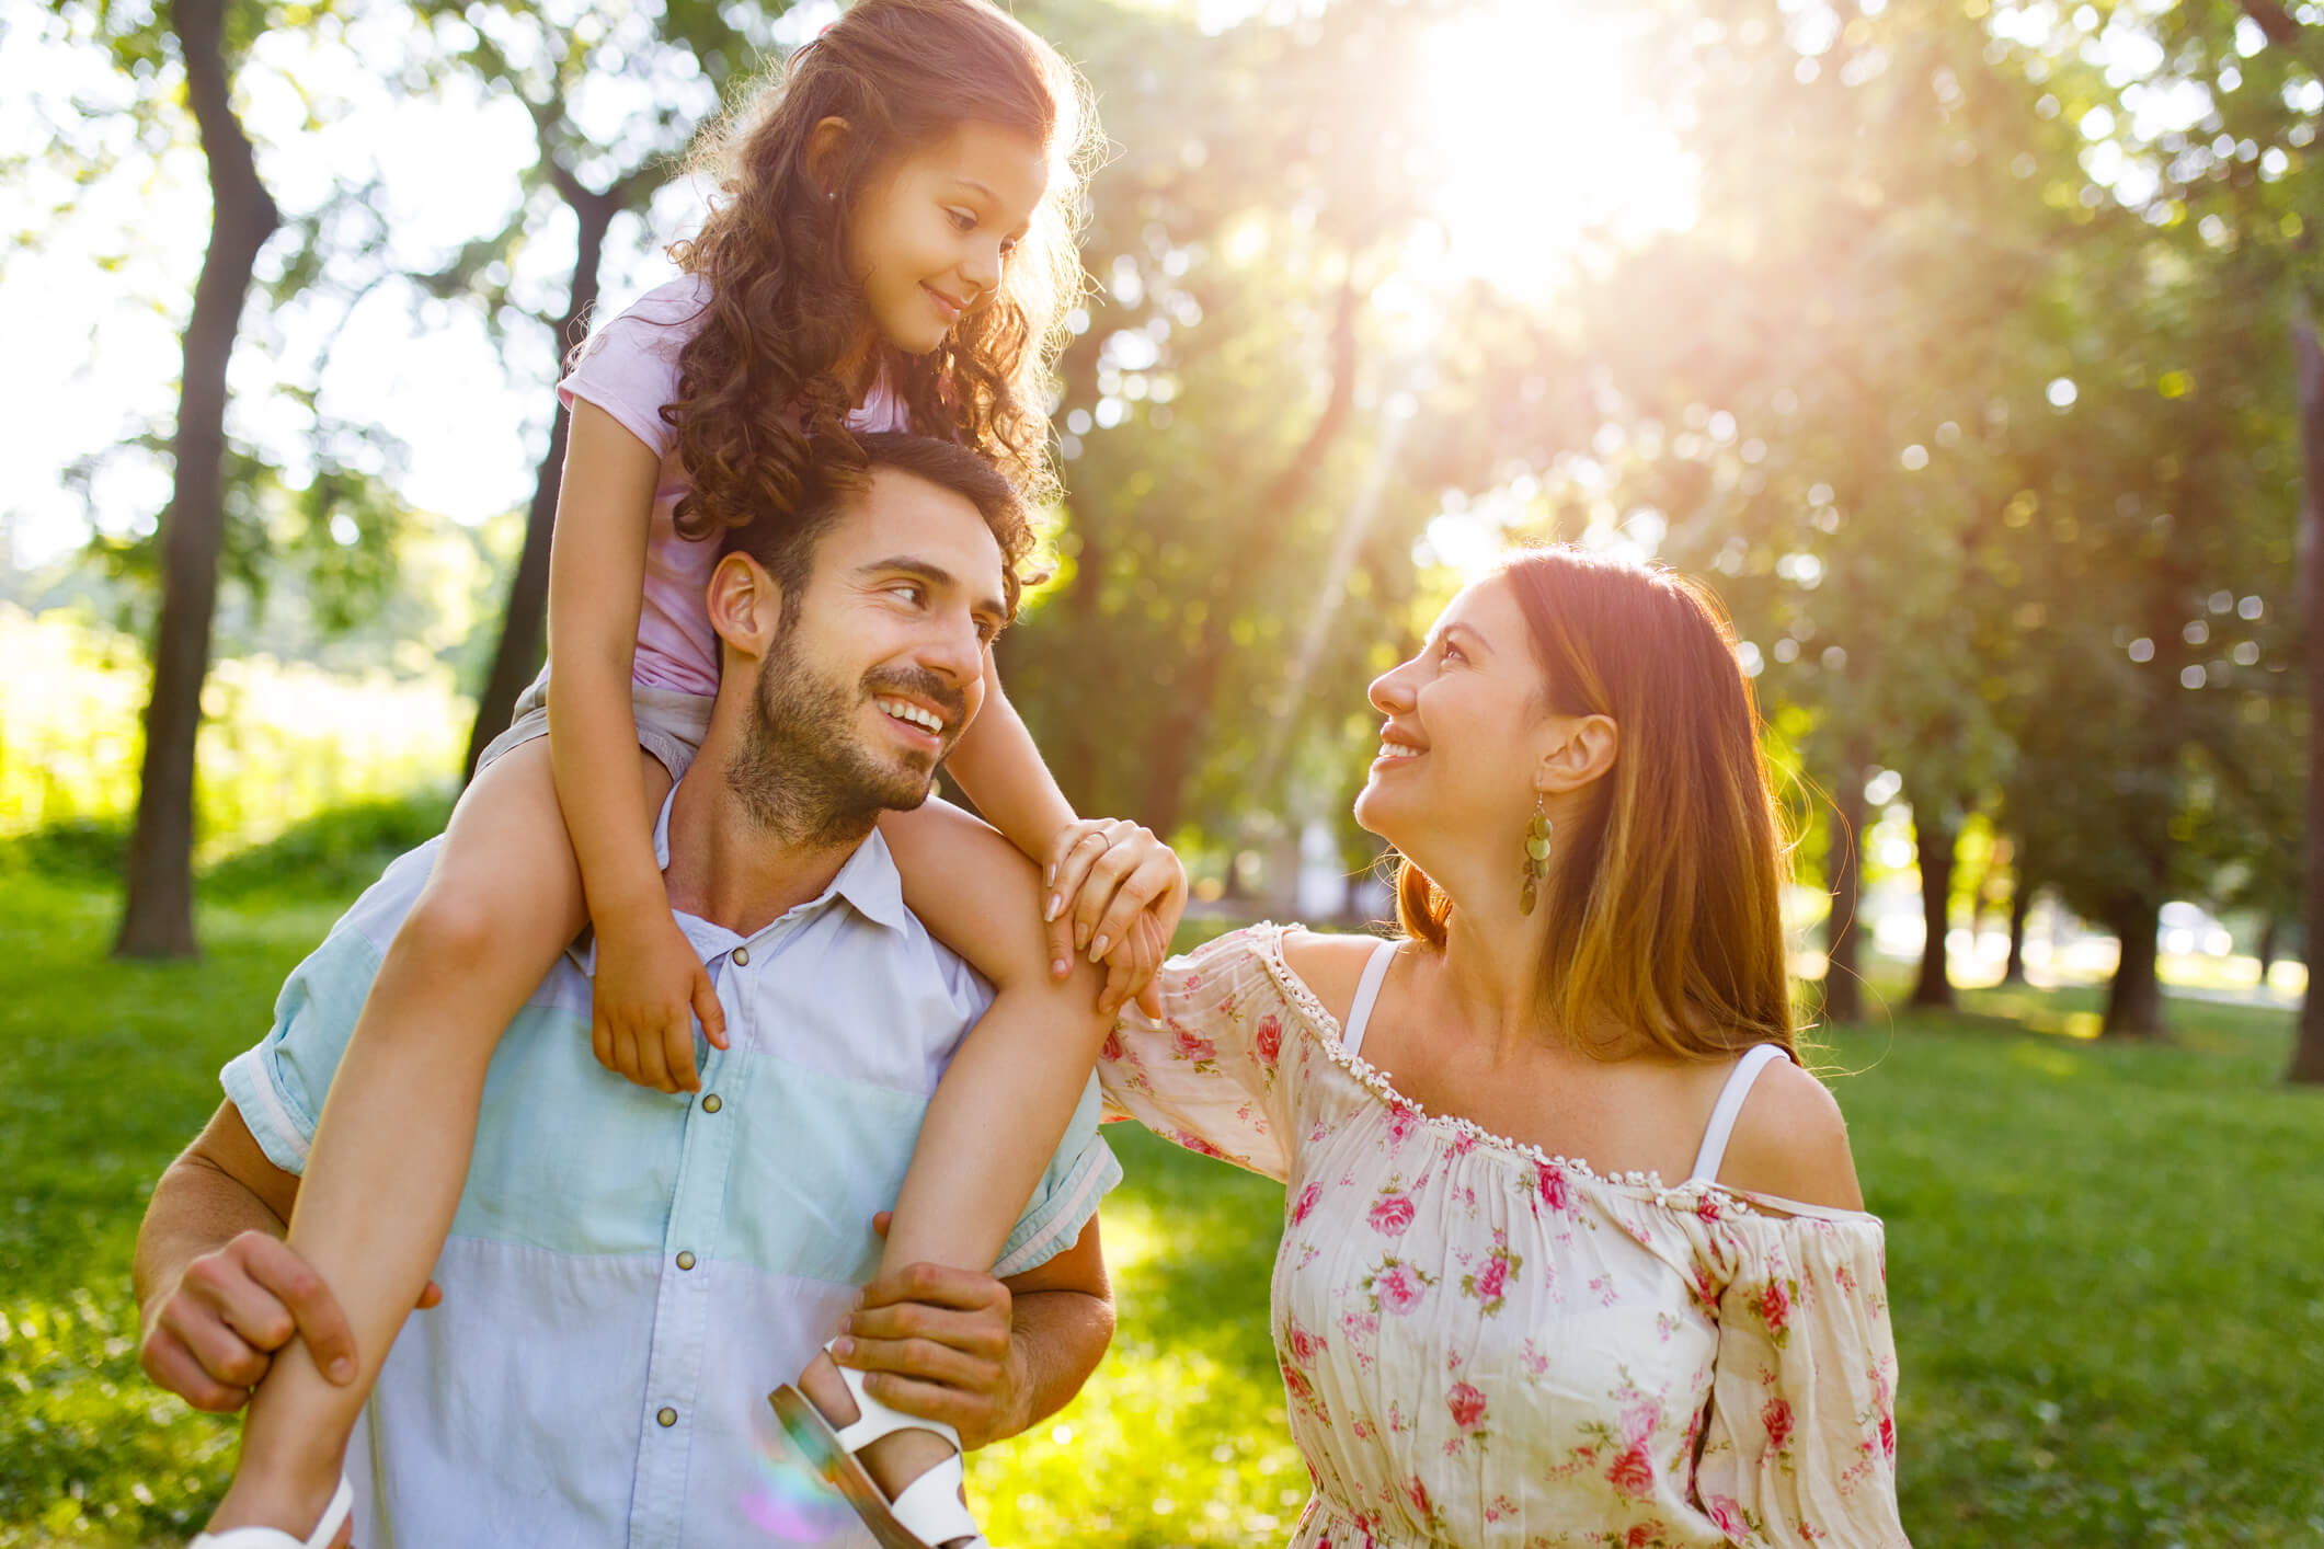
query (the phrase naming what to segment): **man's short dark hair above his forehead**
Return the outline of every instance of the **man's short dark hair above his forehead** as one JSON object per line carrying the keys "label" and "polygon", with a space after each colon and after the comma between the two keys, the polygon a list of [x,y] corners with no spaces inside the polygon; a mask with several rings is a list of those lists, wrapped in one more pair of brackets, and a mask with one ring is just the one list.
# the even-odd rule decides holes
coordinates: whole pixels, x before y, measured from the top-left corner
{"label": "man's short dark hair above his forehead", "polygon": [[1034,536],[1032,513],[1009,476],[967,446],[937,437],[874,430],[851,439],[853,446],[818,444],[799,485],[799,502],[790,511],[765,511],[753,523],[730,527],[718,555],[739,553],[758,560],[788,604],[806,590],[806,578],[816,569],[816,543],[823,541],[823,534],[848,511],[851,502],[862,499],[865,490],[871,488],[871,474],[892,469],[960,495],[976,506],[976,516],[985,518],[985,527],[1002,546],[1002,592],[1009,611],[1016,613],[1018,595],[1025,590],[1018,569],[1032,555]]}

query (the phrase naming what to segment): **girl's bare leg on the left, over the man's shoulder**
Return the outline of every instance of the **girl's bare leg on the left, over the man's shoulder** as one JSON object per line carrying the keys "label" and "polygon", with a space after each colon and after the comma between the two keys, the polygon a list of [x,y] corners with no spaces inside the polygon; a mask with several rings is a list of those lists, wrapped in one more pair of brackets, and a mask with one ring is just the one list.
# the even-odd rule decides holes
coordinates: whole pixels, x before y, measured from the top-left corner
{"label": "girl's bare leg on the left, over the man's shoulder", "polygon": [[[669,771],[639,757],[651,822]],[[346,1312],[356,1382],[328,1382],[297,1340],[274,1356],[211,1528],[304,1533],[330,1505],[356,1414],[444,1252],[500,1033],[583,924],[548,739],[537,739],[460,797],[372,980],[300,1180],[290,1247]]]}

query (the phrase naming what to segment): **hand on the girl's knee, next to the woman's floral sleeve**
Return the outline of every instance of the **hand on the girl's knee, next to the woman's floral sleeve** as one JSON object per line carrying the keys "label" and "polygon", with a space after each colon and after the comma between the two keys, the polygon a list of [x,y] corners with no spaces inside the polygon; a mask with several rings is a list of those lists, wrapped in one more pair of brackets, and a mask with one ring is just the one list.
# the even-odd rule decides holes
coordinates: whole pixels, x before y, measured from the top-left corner
{"label": "hand on the girl's knee, next to the woman's floral sleeve", "polygon": [[1185,913],[1185,866],[1153,829],[1122,817],[1067,824],[1048,852],[1048,966],[1064,978],[1074,952],[1106,964],[1097,1010],[1113,1015],[1129,996],[1150,1013],[1155,968]]}

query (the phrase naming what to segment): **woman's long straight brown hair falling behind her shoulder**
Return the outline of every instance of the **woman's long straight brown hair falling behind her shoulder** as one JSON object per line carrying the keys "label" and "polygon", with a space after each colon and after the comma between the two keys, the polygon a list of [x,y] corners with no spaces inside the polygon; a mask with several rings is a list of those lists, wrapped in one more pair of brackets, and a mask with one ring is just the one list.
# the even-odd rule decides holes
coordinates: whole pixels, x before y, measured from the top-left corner
{"label": "woman's long straight brown hair falling behind her shoulder", "polygon": [[[1541,896],[1543,1010],[1585,1047],[1796,1052],[1783,952],[1783,822],[1734,627],[1697,581],[1580,548],[1501,569],[1548,708],[1620,727],[1613,769],[1562,822]],[[1508,848],[1508,885],[1520,852]],[[1411,862],[1404,931],[1441,950],[1452,901]]]}

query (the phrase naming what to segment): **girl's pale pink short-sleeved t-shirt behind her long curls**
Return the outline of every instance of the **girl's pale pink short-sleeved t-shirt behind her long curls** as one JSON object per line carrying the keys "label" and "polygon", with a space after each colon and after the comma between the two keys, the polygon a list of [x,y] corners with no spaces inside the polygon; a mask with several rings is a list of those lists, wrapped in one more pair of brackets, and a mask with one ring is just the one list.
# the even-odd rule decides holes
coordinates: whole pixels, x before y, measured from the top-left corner
{"label": "girl's pale pink short-sleeved t-shirt behind her long curls", "polygon": [[[718,692],[718,634],[702,606],[702,590],[718,567],[718,541],[679,536],[674,513],[690,483],[679,462],[679,432],[662,420],[662,404],[679,397],[679,351],[702,327],[706,307],[709,283],[697,274],[655,286],[593,332],[574,369],[558,383],[558,402],[567,409],[576,397],[597,404],[662,460],[653,483],[646,597],[637,613],[637,667],[630,680],[681,694]],[[909,430],[909,416],[895,392],[878,383],[848,416],[848,425]]]}

